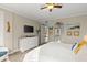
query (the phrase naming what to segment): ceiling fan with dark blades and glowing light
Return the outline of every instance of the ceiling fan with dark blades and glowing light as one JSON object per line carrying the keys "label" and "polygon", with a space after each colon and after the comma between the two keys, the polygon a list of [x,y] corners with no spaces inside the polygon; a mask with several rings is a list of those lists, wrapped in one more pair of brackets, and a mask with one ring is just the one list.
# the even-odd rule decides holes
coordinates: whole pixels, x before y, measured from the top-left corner
{"label": "ceiling fan with dark blades and glowing light", "polygon": [[48,9],[50,12],[52,12],[52,10],[55,8],[57,8],[57,9],[62,8],[62,4],[61,3],[45,3],[45,6],[41,8],[41,10]]}

